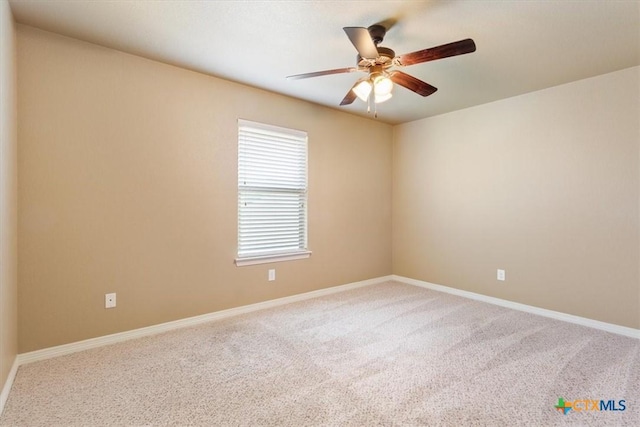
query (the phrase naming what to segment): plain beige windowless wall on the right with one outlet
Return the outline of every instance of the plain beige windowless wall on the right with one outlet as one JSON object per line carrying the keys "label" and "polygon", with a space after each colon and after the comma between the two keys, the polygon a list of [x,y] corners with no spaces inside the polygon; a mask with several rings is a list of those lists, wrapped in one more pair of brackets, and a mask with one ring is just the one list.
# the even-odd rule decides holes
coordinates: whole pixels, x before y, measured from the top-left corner
{"label": "plain beige windowless wall on the right with one outlet", "polygon": [[394,274],[640,328],[639,74],[395,127]]}

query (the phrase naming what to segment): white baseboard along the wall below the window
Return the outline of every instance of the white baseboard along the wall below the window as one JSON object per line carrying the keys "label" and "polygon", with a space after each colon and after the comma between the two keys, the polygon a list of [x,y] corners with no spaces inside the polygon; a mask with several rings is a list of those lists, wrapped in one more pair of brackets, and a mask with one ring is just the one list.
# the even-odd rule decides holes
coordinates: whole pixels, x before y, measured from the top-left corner
{"label": "white baseboard along the wall below the window", "polygon": [[342,286],[319,289],[317,291],[311,291],[303,294],[292,295],[289,297],[273,299],[269,301],[259,302],[256,304],[245,305],[242,307],[230,308],[228,310],[216,311],[213,313],[207,313],[200,316],[188,317],[186,319],[180,319],[172,322],[161,323],[159,325],[148,326],[145,328],[134,329],[126,332],[119,332],[116,334],[105,335],[97,338],[90,338],[87,340],[78,341],[70,344],[63,344],[56,347],[44,348],[42,350],[36,350],[29,353],[19,354],[17,357],[17,362],[18,362],[18,365],[23,365],[25,363],[31,363],[39,360],[50,359],[52,357],[63,356],[66,354],[76,353],[78,351],[88,350],[96,347],[102,347],[105,345],[115,344],[115,343],[131,340],[135,338],[146,337],[149,335],[156,335],[163,332],[172,331],[175,329],[181,329],[189,326],[199,325],[206,322],[211,322],[214,320],[227,319],[229,317],[238,316],[240,314],[251,313],[253,311],[264,310],[266,308],[277,307],[277,306],[289,304],[292,302],[303,301],[311,298],[321,297],[324,295],[334,294],[337,292],[344,292],[350,289],[356,289],[363,286],[374,285],[377,283],[382,283],[387,280],[391,280],[391,276],[383,276],[375,279],[349,283]]}

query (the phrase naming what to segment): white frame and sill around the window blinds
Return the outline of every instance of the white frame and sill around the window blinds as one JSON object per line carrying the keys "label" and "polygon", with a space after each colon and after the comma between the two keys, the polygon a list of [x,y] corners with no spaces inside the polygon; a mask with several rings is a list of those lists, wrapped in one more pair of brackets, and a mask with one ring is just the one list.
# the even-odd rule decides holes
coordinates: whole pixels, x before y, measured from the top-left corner
{"label": "white frame and sill around the window blinds", "polygon": [[[311,251],[308,249],[308,223],[309,223],[309,213],[308,213],[308,191],[309,191],[309,171],[308,171],[308,162],[309,162],[309,141],[307,132],[289,129],[280,126],[274,126],[266,123],[259,123],[245,119],[238,119],[238,162],[237,162],[237,248],[236,248],[236,258],[235,264],[238,267],[246,266],[246,265],[254,265],[254,264],[265,264],[265,263],[273,263],[273,262],[282,262],[282,261],[291,261],[298,259],[309,258],[311,255]],[[253,186],[246,185],[243,188],[241,179],[241,170],[245,171],[248,169],[242,169],[241,162],[243,162],[243,157],[241,154],[241,150],[247,150],[247,145],[243,145],[243,135],[246,135],[246,132],[255,132],[256,134],[260,132],[265,132],[261,134],[261,136],[267,136],[271,133],[274,135],[273,142],[277,143],[278,136],[281,135],[285,138],[293,138],[297,140],[295,142],[300,142],[304,144],[304,164],[298,165],[304,167],[304,188],[302,189],[292,189],[288,187],[278,186],[277,183],[273,185],[262,185],[256,186],[255,183]],[[294,143],[295,143],[294,142]],[[246,160],[246,159],[245,159]],[[246,167],[246,161],[245,167]],[[257,169],[259,170],[259,169]],[[255,171],[254,171],[255,172]],[[303,200],[303,209],[302,209],[302,224],[300,222],[297,223],[296,227],[300,229],[300,225],[302,225],[302,244],[298,244],[296,249],[287,248],[284,250],[265,250],[255,254],[245,254],[241,255],[242,247],[241,247],[241,233],[242,233],[242,204],[241,200],[244,197],[250,197],[251,193],[255,196],[256,191],[262,194],[268,195],[282,195],[283,193],[288,193],[291,195],[296,195],[297,197],[302,197]],[[245,199],[246,200],[246,199]],[[247,225],[246,223],[244,224]],[[247,235],[245,234],[245,237]],[[301,247],[302,246],[302,247]],[[246,252],[246,250],[245,250]]]}

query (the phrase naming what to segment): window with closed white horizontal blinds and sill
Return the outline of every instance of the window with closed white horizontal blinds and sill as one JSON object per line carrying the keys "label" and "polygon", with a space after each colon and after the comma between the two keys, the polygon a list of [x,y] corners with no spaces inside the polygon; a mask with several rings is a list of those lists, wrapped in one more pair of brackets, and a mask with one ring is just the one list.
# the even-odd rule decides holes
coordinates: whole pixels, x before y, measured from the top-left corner
{"label": "window with closed white horizontal blinds and sill", "polygon": [[236,265],[307,258],[307,133],[238,120]]}

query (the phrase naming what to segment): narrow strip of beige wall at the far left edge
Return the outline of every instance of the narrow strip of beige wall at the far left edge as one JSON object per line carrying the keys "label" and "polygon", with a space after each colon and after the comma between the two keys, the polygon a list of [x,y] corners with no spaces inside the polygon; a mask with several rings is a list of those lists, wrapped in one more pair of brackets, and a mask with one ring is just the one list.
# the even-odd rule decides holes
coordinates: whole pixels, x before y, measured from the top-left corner
{"label": "narrow strip of beige wall at the far left edge", "polygon": [[0,0],[0,390],[18,353],[15,34],[9,3]]}

